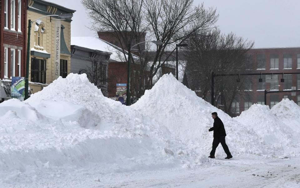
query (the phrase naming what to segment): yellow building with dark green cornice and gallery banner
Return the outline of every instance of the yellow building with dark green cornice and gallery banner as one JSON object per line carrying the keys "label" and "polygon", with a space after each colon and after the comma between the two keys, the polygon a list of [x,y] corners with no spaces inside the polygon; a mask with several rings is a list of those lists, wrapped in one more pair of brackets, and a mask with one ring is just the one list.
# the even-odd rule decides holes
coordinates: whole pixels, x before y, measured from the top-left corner
{"label": "yellow building with dark green cornice and gallery banner", "polygon": [[31,28],[29,86],[35,93],[58,76],[65,78],[70,73],[72,20],[59,20],[58,16],[49,15],[73,15],[75,10],[43,0],[28,0],[27,6],[27,20],[34,21],[46,16],[33,22]]}

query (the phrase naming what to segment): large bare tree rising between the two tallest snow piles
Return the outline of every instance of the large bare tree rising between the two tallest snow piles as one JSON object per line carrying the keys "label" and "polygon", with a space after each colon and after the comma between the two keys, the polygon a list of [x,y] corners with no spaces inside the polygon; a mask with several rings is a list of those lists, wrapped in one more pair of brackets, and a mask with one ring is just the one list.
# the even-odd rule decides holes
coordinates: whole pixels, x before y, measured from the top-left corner
{"label": "large bare tree rising between the two tallest snow piles", "polygon": [[131,58],[136,71],[132,92],[137,97],[152,87],[153,76],[168,59],[162,59],[165,51],[174,52],[176,43],[208,31],[218,18],[215,9],[193,6],[193,0],[82,0],[82,4],[94,21],[94,30],[113,31],[126,61],[128,49],[143,42],[146,33],[149,39],[163,42],[153,49],[153,56],[149,46],[137,45],[139,58]]}

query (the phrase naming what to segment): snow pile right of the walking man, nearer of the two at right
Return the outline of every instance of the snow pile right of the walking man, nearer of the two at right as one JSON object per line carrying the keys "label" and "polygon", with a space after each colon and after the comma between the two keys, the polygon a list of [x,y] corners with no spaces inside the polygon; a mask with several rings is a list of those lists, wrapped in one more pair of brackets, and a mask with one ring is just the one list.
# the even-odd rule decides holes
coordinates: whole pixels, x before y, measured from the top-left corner
{"label": "snow pile right of the walking man, nearer of the two at right", "polygon": [[254,104],[233,119],[254,129],[260,144],[274,157],[294,157],[299,153],[298,135],[273,115],[269,106]]}

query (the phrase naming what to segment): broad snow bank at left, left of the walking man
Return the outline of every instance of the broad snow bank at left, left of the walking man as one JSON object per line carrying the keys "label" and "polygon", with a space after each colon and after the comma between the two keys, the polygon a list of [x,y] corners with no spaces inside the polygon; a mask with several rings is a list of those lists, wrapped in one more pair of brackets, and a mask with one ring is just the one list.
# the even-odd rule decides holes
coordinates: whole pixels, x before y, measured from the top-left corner
{"label": "broad snow bank at left, left of the walking man", "polygon": [[186,168],[193,161],[211,165],[154,119],[104,97],[85,74],[72,73],[26,102],[0,104],[0,157],[0,186],[84,170]]}

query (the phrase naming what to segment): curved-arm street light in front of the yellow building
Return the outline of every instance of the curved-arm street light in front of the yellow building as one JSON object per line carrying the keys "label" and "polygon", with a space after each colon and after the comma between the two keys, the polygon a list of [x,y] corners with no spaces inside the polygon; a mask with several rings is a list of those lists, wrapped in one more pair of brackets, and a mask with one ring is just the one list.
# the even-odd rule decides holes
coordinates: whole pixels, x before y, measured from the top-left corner
{"label": "curved-arm street light in front of the yellow building", "polygon": [[[62,20],[66,20],[66,19],[71,19],[73,17],[72,14],[54,14],[54,15],[47,15],[47,16],[58,16],[59,18],[62,18]],[[31,31],[31,26],[33,24],[33,22],[47,17],[47,16],[42,16],[37,18],[34,21],[28,20],[28,32],[27,32],[27,59],[26,59],[26,74],[25,74],[25,100],[28,99],[28,78],[29,78],[29,56],[30,56],[30,31]]]}

